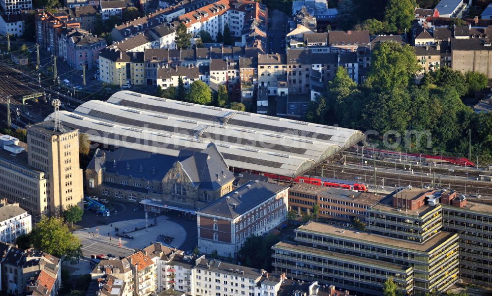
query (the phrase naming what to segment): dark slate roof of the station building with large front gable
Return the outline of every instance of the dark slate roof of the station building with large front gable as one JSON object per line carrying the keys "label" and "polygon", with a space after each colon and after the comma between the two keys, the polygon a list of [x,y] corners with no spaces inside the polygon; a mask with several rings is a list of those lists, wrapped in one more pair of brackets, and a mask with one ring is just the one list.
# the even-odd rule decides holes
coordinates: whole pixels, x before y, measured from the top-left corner
{"label": "dark slate roof of the station building with large front gable", "polygon": [[201,151],[184,149],[177,157],[130,148],[99,150],[87,169],[104,169],[110,174],[161,181],[176,162],[181,163],[186,175],[200,188],[215,190],[234,179],[214,145]]}

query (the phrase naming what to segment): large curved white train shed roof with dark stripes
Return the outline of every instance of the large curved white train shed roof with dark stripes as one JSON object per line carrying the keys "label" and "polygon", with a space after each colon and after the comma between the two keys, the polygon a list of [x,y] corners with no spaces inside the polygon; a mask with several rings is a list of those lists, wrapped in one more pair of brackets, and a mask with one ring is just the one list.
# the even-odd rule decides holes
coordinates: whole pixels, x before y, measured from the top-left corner
{"label": "large curved white train shed roof with dark stripes", "polygon": [[[47,120],[53,119],[54,114]],[[177,156],[215,143],[230,167],[298,176],[364,139],[357,130],[118,91],[88,101],[62,123],[91,141]]]}

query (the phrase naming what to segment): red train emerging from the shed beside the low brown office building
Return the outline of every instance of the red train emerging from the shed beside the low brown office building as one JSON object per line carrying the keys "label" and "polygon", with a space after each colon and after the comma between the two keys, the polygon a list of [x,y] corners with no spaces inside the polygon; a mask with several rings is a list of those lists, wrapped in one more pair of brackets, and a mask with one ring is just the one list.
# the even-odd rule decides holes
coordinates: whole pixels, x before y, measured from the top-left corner
{"label": "red train emerging from the shed beside the low brown office building", "polygon": [[323,186],[323,187],[332,187],[332,188],[347,189],[347,190],[362,191],[362,192],[368,191],[366,184],[357,181],[307,176],[307,175],[301,175],[299,177],[294,178],[294,180],[292,180],[292,177],[280,176],[276,174],[264,173],[262,175],[277,181],[283,181],[289,183],[293,181],[296,184],[308,183],[308,184]]}

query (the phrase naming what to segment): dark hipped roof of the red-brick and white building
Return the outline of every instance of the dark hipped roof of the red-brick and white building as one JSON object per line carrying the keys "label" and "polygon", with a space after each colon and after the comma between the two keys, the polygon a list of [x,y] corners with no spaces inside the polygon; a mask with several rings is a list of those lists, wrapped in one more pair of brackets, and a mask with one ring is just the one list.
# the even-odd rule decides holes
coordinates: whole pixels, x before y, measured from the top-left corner
{"label": "dark hipped roof of the red-brick and white building", "polygon": [[249,181],[234,192],[229,192],[203,207],[197,213],[234,219],[286,188],[288,187],[273,183]]}

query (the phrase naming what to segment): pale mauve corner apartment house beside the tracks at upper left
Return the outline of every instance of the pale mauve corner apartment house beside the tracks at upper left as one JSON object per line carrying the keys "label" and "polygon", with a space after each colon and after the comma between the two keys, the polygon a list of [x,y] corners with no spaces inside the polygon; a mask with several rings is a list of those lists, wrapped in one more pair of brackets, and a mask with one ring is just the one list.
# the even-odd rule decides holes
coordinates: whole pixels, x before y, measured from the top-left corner
{"label": "pale mauve corner apartment house beside the tracks at upper left", "polygon": [[67,29],[59,37],[59,54],[73,68],[96,66],[99,52],[106,48],[106,39],[92,36],[80,29]]}

